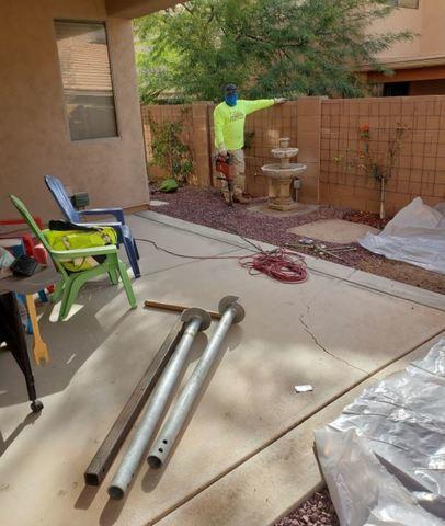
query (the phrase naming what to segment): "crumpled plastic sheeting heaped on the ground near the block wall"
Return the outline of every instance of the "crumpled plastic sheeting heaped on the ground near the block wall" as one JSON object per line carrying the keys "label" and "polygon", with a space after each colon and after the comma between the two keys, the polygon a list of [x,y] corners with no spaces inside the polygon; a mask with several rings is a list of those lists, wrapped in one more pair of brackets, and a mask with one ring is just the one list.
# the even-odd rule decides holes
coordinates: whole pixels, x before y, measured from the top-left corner
{"label": "crumpled plastic sheeting heaped on the ground near the block wall", "polygon": [[415,197],[385,229],[358,243],[370,252],[445,274],[445,203],[435,208]]}

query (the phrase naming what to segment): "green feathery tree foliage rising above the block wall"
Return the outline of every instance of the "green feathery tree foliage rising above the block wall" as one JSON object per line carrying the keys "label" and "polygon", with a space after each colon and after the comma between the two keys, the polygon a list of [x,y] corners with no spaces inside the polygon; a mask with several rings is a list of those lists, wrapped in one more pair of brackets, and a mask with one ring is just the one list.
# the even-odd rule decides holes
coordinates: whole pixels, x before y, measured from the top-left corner
{"label": "green feathery tree foliage rising above the block wall", "polygon": [[227,82],[244,96],[358,96],[364,64],[409,32],[370,31],[387,0],[193,0],[136,22],[142,100],[166,92],[219,100]]}

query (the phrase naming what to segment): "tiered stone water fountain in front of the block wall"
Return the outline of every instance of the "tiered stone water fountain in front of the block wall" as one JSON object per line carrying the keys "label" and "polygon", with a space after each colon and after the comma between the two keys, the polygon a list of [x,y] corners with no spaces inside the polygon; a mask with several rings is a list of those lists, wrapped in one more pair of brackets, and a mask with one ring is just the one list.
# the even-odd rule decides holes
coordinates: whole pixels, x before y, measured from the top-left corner
{"label": "tiered stone water fountain in front of the block wall", "polygon": [[[279,159],[279,164],[265,164],[261,167],[264,175],[269,179],[269,204],[267,207],[273,210],[287,211],[297,208],[297,199],[293,199],[290,194],[292,185],[297,181],[298,187],[300,181],[298,175],[306,171],[306,164],[290,162],[290,159],[298,153],[298,148],[289,147],[290,139],[279,139],[279,148],[272,150],[272,156]],[[298,190],[296,191],[298,195]]]}

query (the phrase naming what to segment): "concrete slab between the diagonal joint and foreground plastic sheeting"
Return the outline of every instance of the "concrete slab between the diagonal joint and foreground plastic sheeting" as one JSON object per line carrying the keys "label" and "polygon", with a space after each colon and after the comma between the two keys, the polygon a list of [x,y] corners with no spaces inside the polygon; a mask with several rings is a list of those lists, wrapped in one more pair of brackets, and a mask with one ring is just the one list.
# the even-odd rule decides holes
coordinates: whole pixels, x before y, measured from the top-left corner
{"label": "concrete slab between the diagonal joint and foreground plastic sheeting", "polygon": [[[365,388],[424,356],[444,335],[442,333],[364,380],[176,508],[158,525],[273,524],[323,484],[313,451],[313,430],[332,422]],[[227,505],[228,502],[230,505]]]}

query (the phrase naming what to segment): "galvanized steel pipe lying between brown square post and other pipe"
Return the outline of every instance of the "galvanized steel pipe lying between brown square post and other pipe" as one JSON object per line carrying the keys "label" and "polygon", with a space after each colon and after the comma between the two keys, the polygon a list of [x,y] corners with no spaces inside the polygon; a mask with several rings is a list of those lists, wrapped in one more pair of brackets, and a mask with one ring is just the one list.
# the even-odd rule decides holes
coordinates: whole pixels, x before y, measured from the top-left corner
{"label": "galvanized steel pipe lying between brown square post and other pipe", "polygon": [[181,319],[186,322],[184,333],[148,401],[135,436],[109,487],[111,499],[119,500],[125,495],[181,378],[193,341],[196,334],[205,331],[212,322],[210,316],[203,309],[187,309]]}

